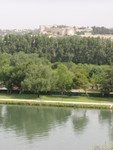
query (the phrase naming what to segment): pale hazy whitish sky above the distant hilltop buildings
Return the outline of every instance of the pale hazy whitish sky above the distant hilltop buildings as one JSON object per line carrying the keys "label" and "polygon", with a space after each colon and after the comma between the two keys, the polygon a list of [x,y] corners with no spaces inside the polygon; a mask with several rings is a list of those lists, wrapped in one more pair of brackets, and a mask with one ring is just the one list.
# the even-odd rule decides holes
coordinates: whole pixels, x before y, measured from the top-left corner
{"label": "pale hazy whitish sky above the distant hilltop buildings", "polygon": [[0,0],[0,29],[53,24],[113,28],[113,0]]}

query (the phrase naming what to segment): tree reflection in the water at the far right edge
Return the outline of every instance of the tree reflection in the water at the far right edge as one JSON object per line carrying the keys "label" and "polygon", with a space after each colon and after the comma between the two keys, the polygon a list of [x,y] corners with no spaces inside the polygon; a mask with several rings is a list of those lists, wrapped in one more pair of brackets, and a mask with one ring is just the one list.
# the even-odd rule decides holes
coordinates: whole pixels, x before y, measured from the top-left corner
{"label": "tree reflection in the water at the far right edge", "polygon": [[106,124],[109,127],[109,136],[113,140],[113,111],[112,110],[100,110],[99,122]]}

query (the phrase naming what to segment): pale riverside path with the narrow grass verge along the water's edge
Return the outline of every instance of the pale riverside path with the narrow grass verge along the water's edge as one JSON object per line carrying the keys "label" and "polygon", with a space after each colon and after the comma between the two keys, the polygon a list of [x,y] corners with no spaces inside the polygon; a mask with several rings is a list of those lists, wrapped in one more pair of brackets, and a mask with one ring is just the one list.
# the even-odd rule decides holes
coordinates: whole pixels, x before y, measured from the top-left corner
{"label": "pale riverside path with the narrow grass verge along the water's edge", "polygon": [[30,106],[57,106],[57,107],[75,107],[75,108],[98,108],[113,109],[113,103],[103,102],[67,102],[52,100],[26,100],[26,99],[0,99],[0,104],[30,105]]}

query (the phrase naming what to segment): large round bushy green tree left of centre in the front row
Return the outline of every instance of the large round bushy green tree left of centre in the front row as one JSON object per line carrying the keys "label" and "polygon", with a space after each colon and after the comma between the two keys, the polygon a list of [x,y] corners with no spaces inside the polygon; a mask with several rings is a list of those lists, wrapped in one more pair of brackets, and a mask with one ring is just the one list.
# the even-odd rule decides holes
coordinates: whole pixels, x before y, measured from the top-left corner
{"label": "large round bushy green tree left of centre in the front row", "polygon": [[49,66],[32,64],[26,69],[22,89],[39,95],[40,91],[48,91],[52,88],[52,77],[54,75]]}

